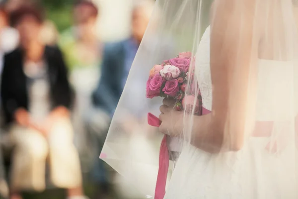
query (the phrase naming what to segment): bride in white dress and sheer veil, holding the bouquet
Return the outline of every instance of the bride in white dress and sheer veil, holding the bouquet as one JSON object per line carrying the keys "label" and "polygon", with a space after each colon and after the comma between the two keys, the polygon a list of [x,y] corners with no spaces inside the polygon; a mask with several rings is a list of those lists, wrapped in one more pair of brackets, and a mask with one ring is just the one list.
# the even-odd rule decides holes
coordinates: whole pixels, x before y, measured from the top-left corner
{"label": "bride in white dress and sheer veil, holding the bouquet", "polygon": [[[164,198],[298,198],[298,37],[293,2],[214,0],[212,8],[207,0],[156,3],[162,9],[161,20],[159,25],[149,25],[144,38],[167,34],[174,38],[176,54],[189,48],[185,40],[192,42],[196,58],[190,68],[195,70],[196,92],[203,106],[203,115],[177,111],[168,98],[160,106],[159,132],[179,138],[182,146]],[[209,15],[210,26],[200,37]],[[170,58],[162,57],[160,43],[152,45],[156,52],[146,54],[141,44],[133,67],[149,69]],[[144,193],[152,193],[148,187],[156,180],[156,176],[152,180],[156,175],[153,149],[158,135],[148,135],[140,127],[121,134],[124,117],[120,113],[127,110],[126,90],[138,76],[136,71],[130,72],[103,152],[107,163],[124,176],[129,174]],[[158,103],[147,100],[144,106],[156,113]],[[130,150],[127,140],[132,137],[147,144]]]}

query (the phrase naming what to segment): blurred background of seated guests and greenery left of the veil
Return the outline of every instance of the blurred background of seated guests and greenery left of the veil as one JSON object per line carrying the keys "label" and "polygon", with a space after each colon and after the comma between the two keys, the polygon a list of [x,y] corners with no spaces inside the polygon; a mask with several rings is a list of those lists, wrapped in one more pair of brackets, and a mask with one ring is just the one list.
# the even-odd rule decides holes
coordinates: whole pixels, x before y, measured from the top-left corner
{"label": "blurred background of seated guests and greenery left of the veil", "polygon": [[0,0],[0,198],[134,198],[98,157],[153,5]]}

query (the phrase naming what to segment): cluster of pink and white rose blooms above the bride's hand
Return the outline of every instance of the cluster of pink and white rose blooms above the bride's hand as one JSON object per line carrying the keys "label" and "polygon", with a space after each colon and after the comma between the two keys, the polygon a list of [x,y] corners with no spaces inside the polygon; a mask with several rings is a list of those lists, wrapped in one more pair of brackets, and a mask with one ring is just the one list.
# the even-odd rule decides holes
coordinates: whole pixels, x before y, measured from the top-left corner
{"label": "cluster of pink and white rose blooms above the bride's hand", "polygon": [[[147,98],[163,97],[176,100],[176,110],[186,110],[195,114],[200,111],[199,96],[195,95],[196,84],[193,81],[194,70],[190,64],[195,62],[191,52],[179,53],[176,58],[163,61],[155,65],[149,72],[146,94]],[[198,88],[198,87],[197,87]],[[196,101],[196,104],[194,104]]]}

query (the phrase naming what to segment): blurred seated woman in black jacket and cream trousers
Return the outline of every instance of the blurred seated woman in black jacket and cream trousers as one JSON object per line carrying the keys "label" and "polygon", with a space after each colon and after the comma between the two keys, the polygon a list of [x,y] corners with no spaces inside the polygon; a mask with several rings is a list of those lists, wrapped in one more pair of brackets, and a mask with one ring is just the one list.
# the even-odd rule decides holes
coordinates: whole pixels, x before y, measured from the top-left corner
{"label": "blurred seated woman in black jacket and cream trousers", "polygon": [[39,40],[41,9],[21,6],[11,13],[10,23],[20,36],[19,47],[4,56],[1,80],[5,126],[14,143],[10,198],[46,189],[48,159],[52,184],[67,189],[70,199],[84,199],[70,122],[72,91],[62,53]]}

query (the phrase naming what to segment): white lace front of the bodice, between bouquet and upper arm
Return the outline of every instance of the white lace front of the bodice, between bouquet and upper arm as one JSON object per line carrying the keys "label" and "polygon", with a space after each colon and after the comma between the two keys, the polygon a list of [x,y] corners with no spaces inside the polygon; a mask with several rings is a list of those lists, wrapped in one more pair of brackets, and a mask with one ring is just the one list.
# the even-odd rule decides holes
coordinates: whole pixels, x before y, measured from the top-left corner
{"label": "white lace front of the bodice, between bouquet and upper arm", "polygon": [[196,54],[196,76],[202,95],[203,107],[212,108],[212,82],[210,72],[210,27],[203,34]]}

